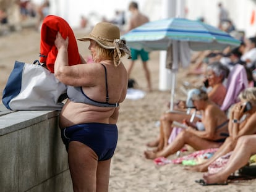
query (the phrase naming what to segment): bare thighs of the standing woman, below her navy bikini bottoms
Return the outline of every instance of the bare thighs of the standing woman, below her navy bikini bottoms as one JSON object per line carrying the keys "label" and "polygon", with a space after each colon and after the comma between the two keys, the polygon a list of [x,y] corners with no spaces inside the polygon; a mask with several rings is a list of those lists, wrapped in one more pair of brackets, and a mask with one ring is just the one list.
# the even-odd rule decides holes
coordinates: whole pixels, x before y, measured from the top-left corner
{"label": "bare thighs of the standing woman, below her navy bikini bottoms", "polygon": [[[109,162],[101,162],[98,165],[98,156],[96,153],[83,143],[71,141],[69,143],[69,170],[75,192],[80,191],[98,191],[100,189],[97,179],[98,172],[101,173],[100,185],[106,188],[106,181],[109,179]],[[97,168],[100,167],[100,170]],[[106,171],[106,173],[103,173]],[[107,188],[106,188],[107,189]],[[100,190],[99,190],[100,191]],[[108,190],[101,190],[108,191]]]}

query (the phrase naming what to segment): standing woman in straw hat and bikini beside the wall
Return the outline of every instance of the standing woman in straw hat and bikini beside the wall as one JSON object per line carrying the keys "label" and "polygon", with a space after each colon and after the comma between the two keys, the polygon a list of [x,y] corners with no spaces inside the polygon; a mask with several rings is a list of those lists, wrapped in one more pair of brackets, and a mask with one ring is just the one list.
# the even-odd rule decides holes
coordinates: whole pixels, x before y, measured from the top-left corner
{"label": "standing woman in straw hat and bikini beside the wall", "polygon": [[[68,65],[68,38],[60,33],[55,44],[56,78],[67,85],[68,101],[59,125],[68,151],[74,191],[108,191],[109,169],[117,144],[119,103],[126,98],[127,72],[121,57],[129,49],[120,40],[116,25],[101,22],[90,35],[94,63]],[[85,62],[84,62],[85,63]]]}

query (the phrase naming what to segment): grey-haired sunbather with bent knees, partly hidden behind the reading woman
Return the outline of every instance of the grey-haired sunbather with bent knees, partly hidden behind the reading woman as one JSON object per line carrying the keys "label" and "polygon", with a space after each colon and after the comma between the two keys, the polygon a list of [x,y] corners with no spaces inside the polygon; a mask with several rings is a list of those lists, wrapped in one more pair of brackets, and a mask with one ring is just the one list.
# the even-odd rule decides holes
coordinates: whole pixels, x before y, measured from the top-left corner
{"label": "grey-haired sunbather with bent knees, partly hidden behind the reading woman", "polygon": [[[204,80],[205,86],[208,88],[208,98],[221,106],[226,96],[226,87],[223,85],[224,79],[228,76],[229,70],[220,62],[213,62],[208,65],[206,78]],[[176,112],[166,112],[160,118],[160,136],[155,140],[147,144],[148,147],[157,147],[158,150],[163,149],[168,145],[168,139],[171,135],[173,128],[171,127],[173,121],[182,122],[184,119],[190,119],[191,113],[184,114]],[[194,112],[194,111],[191,111]],[[194,120],[199,120],[195,118]]]}

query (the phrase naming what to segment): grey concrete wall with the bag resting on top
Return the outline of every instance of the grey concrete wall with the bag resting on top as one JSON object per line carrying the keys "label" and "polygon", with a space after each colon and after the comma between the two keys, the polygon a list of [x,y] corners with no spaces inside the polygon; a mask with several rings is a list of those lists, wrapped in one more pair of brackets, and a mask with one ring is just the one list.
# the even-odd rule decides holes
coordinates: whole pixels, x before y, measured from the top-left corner
{"label": "grey concrete wall with the bag resting on top", "polygon": [[56,111],[8,111],[0,105],[0,191],[72,191]]}

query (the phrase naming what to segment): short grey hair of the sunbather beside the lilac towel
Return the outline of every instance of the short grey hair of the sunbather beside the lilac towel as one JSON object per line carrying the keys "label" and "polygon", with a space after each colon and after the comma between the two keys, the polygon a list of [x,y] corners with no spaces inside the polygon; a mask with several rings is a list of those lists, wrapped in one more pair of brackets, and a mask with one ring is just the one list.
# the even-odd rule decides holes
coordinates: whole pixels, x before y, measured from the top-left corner
{"label": "short grey hair of the sunbather beside the lilac towel", "polygon": [[207,71],[212,70],[217,77],[222,77],[221,81],[224,81],[228,77],[229,69],[228,67],[221,64],[221,62],[215,61],[207,65]]}

